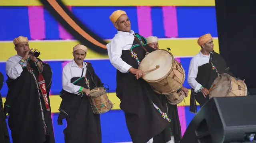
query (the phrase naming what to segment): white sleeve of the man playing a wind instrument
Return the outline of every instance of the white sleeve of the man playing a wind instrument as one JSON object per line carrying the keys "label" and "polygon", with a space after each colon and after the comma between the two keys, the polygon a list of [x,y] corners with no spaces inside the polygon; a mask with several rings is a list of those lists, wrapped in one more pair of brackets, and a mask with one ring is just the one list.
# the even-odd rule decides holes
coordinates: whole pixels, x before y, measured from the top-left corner
{"label": "white sleeve of the man playing a wind instrument", "polygon": [[6,61],[5,69],[8,77],[13,80],[18,78],[23,71],[21,65],[19,63],[15,63],[12,59],[8,59]]}

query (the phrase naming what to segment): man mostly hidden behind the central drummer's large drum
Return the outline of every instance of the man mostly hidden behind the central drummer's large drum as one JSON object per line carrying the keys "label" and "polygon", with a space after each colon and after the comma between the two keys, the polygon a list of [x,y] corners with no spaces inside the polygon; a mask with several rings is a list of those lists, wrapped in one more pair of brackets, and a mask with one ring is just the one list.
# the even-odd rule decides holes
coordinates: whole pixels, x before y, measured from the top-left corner
{"label": "man mostly hidden behind the central drummer's large drum", "polygon": [[[158,37],[149,36],[146,38],[146,40],[148,41],[148,46],[150,46],[156,50],[159,49]],[[182,86],[181,90],[186,94],[186,97],[187,97],[188,89],[185,88],[184,86]],[[167,100],[166,96],[161,95],[160,98],[162,100],[162,105],[164,106],[164,108],[167,108],[168,116],[172,120],[170,122],[170,128],[172,129],[172,133],[173,133],[173,135],[171,135],[171,138],[172,138],[172,140],[174,138],[175,143],[179,143],[182,138],[182,134],[181,134],[181,127],[180,127],[180,119],[179,119],[179,114],[178,114],[178,107],[177,107],[177,105],[168,104],[168,100]]]}

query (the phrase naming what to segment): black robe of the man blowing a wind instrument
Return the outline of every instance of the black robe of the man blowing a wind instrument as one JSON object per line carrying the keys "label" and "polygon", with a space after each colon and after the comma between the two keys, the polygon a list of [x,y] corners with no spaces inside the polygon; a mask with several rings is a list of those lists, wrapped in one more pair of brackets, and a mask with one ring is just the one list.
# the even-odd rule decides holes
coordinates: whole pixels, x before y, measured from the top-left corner
{"label": "black robe of the man blowing a wind instrument", "polygon": [[[38,61],[41,60],[38,59]],[[35,63],[29,61],[29,64],[37,79],[39,71]],[[50,106],[49,92],[52,84],[52,70],[48,63],[43,63],[42,76],[45,80]],[[23,67],[21,75],[15,80],[8,78],[6,81],[9,89],[4,104],[4,113],[9,113],[8,125],[13,143],[55,143],[51,111],[46,110],[44,98],[40,96],[47,125],[46,134],[44,131],[39,94],[35,82],[27,67]]]}

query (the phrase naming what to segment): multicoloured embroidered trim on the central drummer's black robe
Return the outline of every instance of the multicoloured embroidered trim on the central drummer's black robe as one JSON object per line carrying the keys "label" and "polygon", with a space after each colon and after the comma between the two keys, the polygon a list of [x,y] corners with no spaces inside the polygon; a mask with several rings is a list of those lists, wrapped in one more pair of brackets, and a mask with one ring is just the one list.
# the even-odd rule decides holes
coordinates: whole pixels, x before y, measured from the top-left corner
{"label": "multicoloured embroidered trim on the central drummer's black robe", "polygon": [[[143,44],[142,39],[141,39],[140,37],[138,37],[138,39],[140,39],[140,42]],[[147,43],[147,42],[146,42],[146,43]],[[144,44],[143,44],[143,45],[144,45]],[[138,47],[138,45],[132,46],[131,49],[130,49],[130,52],[131,52],[131,54],[132,54],[132,57],[134,57],[134,59],[136,59],[138,65],[140,65],[140,59],[138,59],[137,54],[132,51],[132,49],[133,49],[134,47]],[[158,106],[156,106],[156,104],[154,104],[153,101],[152,101],[152,103],[153,103],[154,107],[156,108],[156,110],[162,115],[162,118],[166,119],[168,122],[171,122],[171,119],[168,118],[168,115],[167,115],[165,112],[162,112],[162,110],[160,110],[160,108],[158,108]],[[171,129],[171,128],[169,128],[169,129],[170,129],[170,134],[173,135],[172,129]]]}

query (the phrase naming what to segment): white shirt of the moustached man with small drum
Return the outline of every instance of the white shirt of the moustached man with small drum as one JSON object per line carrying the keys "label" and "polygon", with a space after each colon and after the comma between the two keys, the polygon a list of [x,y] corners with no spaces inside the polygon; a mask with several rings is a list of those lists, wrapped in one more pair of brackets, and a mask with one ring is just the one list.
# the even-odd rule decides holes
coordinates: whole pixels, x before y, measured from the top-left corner
{"label": "white shirt of the moustached man with small drum", "polygon": [[78,94],[81,86],[74,85],[70,82],[73,77],[81,77],[82,71],[84,69],[83,75],[86,75],[86,65],[87,63],[83,63],[83,68],[78,67],[75,60],[73,59],[69,63],[67,63],[62,71],[62,88],[69,93]]}

